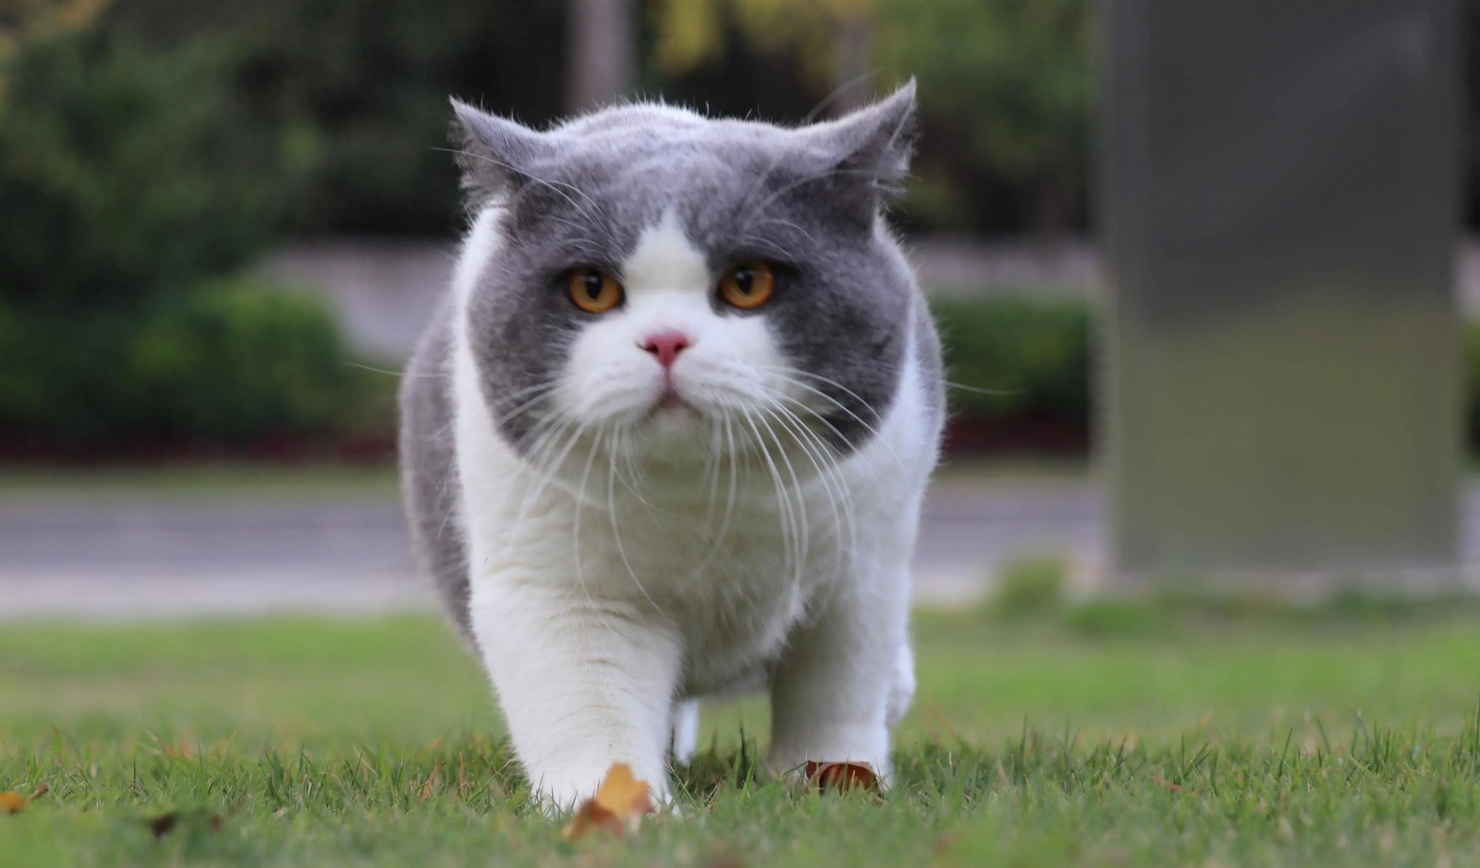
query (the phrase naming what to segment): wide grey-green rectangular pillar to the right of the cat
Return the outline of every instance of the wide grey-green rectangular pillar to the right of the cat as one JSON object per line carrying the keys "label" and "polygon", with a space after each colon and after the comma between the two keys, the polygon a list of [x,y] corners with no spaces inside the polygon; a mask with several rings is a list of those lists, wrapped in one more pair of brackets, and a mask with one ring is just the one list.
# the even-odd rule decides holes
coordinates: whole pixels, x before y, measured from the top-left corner
{"label": "wide grey-green rectangular pillar to the right of the cat", "polygon": [[1122,583],[1455,578],[1453,0],[1103,0]]}

